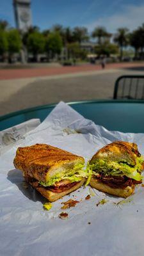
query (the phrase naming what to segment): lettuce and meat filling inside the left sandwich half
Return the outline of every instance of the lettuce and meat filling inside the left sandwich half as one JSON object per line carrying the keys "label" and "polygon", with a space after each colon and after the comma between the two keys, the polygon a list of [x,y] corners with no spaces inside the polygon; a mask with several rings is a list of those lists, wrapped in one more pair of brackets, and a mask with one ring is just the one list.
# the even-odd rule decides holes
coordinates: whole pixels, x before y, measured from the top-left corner
{"label": "lettuce and meat filling inside the left sandwich half", "polygon": [[70,189],[80,182],[83,178],[88,178],[88,170],[83,170],[84,164],[77,163],[70,170],[63,170],[62,172],[54,174],[47,182],[39,181],[39,184],[52,191],[58,191],[65,187]]}

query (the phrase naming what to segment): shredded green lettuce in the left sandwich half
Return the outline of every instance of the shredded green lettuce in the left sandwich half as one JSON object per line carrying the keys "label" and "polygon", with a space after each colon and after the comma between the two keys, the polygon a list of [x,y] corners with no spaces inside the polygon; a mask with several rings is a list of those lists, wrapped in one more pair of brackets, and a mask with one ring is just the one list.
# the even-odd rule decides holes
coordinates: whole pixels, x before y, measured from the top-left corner
{"label": "shredded green lettuce in the left sandwich half", "polygon": [[67,172],[56,173],[47,182],[40,181],[39,183],[44,186],[52,186],[60,180],[68,179],[71,182],[79,182],[82,178],[88,178],[88,171],[83,170],[84,164],[76,164],[74,168],[68,170]]}

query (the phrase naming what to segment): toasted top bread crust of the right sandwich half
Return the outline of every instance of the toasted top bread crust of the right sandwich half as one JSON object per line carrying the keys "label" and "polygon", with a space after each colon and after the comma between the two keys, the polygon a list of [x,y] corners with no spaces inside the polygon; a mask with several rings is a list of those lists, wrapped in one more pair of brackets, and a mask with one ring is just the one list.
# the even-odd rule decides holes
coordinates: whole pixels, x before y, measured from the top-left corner
{"label": "toasted top bread crust of the right sandwich half", "polygon": [[95,162],[95,159],[109,159],[111,161],[125,161],[129,164],[135,165],[135,156],[140,156],[138,147],[135,143],[129,143],[125,141],[114,141],[97,151],[92,157],[90,163]]}

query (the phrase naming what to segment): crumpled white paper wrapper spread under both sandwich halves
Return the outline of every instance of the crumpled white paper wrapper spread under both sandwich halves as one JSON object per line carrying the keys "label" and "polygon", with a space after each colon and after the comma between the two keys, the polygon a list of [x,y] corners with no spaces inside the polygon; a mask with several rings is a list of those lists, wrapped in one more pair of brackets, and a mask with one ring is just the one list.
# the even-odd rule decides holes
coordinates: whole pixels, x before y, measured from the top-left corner
{"label": "crumpled white paper wrapper spread under both sandwich halves", "polygon": [[[144,154],[144,134],[108,131],[60,102],[42,124],[28,132],[20,147],[47,143],[88,161],[99,148],[114,140],[134,141]],[[13,168],[17,147],[14,145],[0,157],[0,255],[144,255],[141,185],[126,200],[87,186],[44,211],[45,198],[30,186],[26,188],[22,173]],[[90,193],[94,196],[85,200]],[[79,204],[61,210],[61,202],[70,198],[79,200]],[[97,206],[103,198],[106,204]],[[67,220],[58,218],[61,211],[68,213]]]}

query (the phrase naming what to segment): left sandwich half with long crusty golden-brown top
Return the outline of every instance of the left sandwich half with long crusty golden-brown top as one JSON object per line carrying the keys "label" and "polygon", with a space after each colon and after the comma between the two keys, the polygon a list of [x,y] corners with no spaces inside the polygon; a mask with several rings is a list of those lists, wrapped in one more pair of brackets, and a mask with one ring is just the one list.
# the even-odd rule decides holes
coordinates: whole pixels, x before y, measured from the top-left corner
{"label": "left sandwich half with long crusty golden-brown top", "polygon": [[49,202],[80,188],[88,177],[83,157],[46,144],[19,147],[13,164]]}

